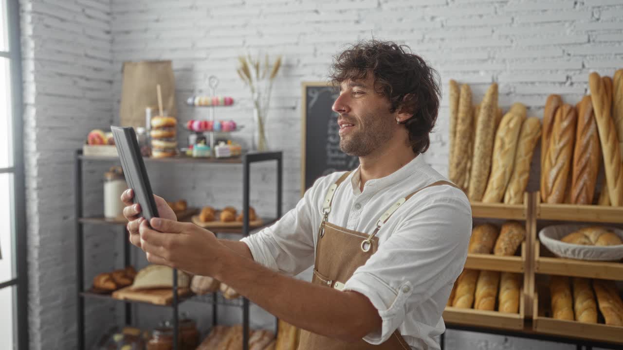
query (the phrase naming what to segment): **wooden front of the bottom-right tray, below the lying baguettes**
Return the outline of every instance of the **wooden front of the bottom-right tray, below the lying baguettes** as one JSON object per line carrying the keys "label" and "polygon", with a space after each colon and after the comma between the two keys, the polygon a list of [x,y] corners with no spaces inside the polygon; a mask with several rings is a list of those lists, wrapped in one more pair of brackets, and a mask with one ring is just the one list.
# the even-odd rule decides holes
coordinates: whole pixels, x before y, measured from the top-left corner
{"label": "wooden front of the bottom-right tray, below the lying baguettes", "polygon": [[579,339],[594,339],[623,344],[623,327],[609,326],[603,323],[583,323],[549,318],[544,315],[543,306],[539,310],[538,293],[534,296],[535,316],[532,322],[533,330],[537,333],[557,334]]}

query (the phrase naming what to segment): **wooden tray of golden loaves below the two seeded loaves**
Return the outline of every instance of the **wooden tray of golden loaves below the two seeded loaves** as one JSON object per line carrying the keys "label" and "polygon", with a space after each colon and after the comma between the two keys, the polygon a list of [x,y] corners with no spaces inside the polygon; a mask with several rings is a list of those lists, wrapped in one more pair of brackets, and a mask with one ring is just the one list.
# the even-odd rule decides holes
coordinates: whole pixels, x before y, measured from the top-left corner
{"label": "wooden tray of golden loaves below the two seeded loaves", "polygon": [[445,306],[444,322],[523,329],[526,298],[521,285],[518,273],[465,269]]}

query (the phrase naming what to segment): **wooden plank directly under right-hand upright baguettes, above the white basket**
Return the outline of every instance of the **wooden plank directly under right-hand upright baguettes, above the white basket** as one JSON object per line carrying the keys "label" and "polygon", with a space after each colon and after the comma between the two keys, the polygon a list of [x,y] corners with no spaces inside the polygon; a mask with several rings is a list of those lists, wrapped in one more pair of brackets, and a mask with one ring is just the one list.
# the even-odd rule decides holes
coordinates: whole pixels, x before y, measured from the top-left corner
{"label": "wooden plank directly under right-hand upright baguettes, above the white basket", "polygon": [[536,205],[536,219],[623,224],[623,207],[579,206],[576,204]]}

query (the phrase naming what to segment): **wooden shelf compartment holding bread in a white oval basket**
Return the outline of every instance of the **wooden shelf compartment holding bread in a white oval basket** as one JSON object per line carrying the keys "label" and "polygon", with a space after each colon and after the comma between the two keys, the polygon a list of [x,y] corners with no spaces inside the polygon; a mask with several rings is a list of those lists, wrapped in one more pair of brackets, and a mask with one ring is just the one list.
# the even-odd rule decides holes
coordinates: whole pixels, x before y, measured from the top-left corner
{"label": "wooden shelf compartment holding bread in a white oval basket", "polygon": [[623,230],[600,225],[551,225],[539,232],[535,272],[623,280]]}

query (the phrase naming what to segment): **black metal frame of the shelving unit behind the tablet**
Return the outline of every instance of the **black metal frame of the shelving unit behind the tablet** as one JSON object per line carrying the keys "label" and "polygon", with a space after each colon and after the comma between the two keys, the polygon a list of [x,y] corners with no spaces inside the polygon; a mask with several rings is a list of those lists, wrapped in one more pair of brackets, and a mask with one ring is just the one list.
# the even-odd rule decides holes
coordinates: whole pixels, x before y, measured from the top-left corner
{"label": "black metal frame of the shelving unit behind the tablet", "polygon": [[[116,158],[101,158],[104,161],[117,161]],[[95,160],[95,159],[94,159]],[[242,163],[242,208],[244,213],[244,221],[242,222],[242,235],[244,237],[249,235],[249,199],[250,199],[250,165],[252,163],[260,163],[264,161],[277,161],[277,216],[280,218],[282,215],[282,200],[283,200],[283,153],[277,152],[263,152],[263,153],[247,153],[243,154],[241,158]],[[206,164],[210,164],[206,161]],[[239,164],[239,163],[233,163]],[[82,150],[78,149],[75,152],[75,167],[74,167],[74,184],[75,184],[75,229],[76,229],[76,319],[77,319],[77,348],[84,349],[85,346],[85,318],[84,318],[84,241],[83,241],[83,225],[85,223],[80,221],[82,218]],[[127,231],[124,225],[123,227],[125,244],[123,248],[123,257],[125,265],[130,265],[130,243],[125,238]],[[216,232],[215,232],[216,233]],[[173,344],[174,349],[178,349],[178,307],[182,301],[178,298],[178,271],[173,270],[173,303],[169,306],[173,308]],[[131,301],[125,301],[125,322],[131,324]],[[218,299],[216,293],[212,296],[212,324],[217,324],[217,304]],[[227,305],[227,303],[226,303]],[[243,343],[242,349],[249,349],[249,300],[242,298],[242,327],[243,327]],[[275,331],[275,334],[277,332]]]}

